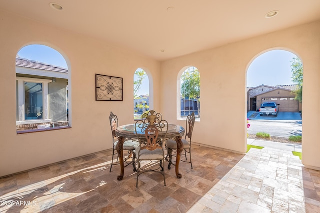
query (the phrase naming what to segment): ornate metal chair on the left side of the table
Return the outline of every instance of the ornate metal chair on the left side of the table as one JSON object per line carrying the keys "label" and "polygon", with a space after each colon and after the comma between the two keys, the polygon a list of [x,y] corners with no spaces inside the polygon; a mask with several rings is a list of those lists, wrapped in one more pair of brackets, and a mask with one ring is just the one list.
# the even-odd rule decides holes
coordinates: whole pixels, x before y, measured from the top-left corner
{"label": "ornate metal chair on the left side of the table", "polygon": [[[110,172],[111,172],[111,168],[112,165],[115,164],[119,164],[118,163],[118,157],[116,157],[116,161],[113,162],[113,157],[114,155],[117,155],[117,151],[116,151],[116,145],[118,143],[118,141],[116,140],[116,136],[115,136],[115,130],[118,127],[118,118],[116,115],[114,115],[112,112],[110,112],[110,116],[109,116],[109,120],[110,120],[110,126],[111,126],[111,132],[112,132],[112,162],[111,162],[111,166],[110,166]],[[125,140],[123,143],[123,150],[127,150],[128,152],[128,157],[124,159],[124,161],[127,163],[127,160],[129,158],[132,158],[130,162],[127,163],[127,165],[132,163],[133,166],[133,171],[135,171],[135,164],[134,164],[134,159],[135,159],[135,153],[133,152],[133,150],[135,148],[137,148],[139,146],[139,142],[137,141],[133,141],[133,140]],[[127,166],[125,165],[125,167]]]}

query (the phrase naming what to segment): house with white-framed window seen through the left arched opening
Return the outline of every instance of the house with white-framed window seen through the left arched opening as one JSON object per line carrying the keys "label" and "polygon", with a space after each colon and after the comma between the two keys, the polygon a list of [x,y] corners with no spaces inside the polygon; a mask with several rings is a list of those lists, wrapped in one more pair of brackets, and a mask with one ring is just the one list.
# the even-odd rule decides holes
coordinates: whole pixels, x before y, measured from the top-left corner
{"label": "house with white-framed window seen through the left arched opening", "polygon": [[18,56],[15,70],[16,130],[67,126],[68,70]]}

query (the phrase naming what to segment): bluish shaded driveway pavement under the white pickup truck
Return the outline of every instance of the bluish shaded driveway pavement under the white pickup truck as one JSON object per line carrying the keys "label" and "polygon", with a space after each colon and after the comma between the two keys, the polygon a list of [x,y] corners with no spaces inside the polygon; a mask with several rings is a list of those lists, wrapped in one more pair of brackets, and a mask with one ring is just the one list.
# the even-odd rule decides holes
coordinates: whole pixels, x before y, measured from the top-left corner
{"label": "bluish shaded driveway pavement under the white pickup truck", "polygon": [[278,116],[263,115],[260,116],[259,112],[247,112],[247,118],[250,120],[301,120],[301,115],[298,112],[278,112]]}

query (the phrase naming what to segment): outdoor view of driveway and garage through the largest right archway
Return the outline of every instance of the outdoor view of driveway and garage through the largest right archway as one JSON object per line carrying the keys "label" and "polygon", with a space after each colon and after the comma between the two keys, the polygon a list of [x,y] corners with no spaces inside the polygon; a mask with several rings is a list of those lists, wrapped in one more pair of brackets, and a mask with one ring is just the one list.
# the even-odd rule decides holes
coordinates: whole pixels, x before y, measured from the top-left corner
{"label": "outdoor view of driveway and garage through the largest right archway", "polygon": [[[302,78],[302,61],[290,51],[272,49],[252,59],[246,73],[248,138],[255,138],[263,130],[263,133],[280,137],[281,142],[290,143],[288,138],[301,142]],[[277,106],[273,112],[263,106],[269,103]],[[266,124],[261,126],[258,120]],[[277,120],[283,122],[274,122]],[[289,120],[296,123],[289,125]]]}

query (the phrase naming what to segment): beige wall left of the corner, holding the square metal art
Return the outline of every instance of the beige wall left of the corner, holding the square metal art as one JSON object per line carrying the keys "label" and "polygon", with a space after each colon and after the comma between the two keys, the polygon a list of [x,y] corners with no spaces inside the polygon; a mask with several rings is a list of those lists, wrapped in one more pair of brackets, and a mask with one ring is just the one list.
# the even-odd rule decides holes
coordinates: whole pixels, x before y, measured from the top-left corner
{"label": "beige wall left of the corner, holding the square metal art", "polygon": [[[0,177],[112,148],[109,113],[133,122],[133,74],[147,68],[159,79],[159,62],[66,30],[0,11]],[[16,134],[15,55],[28,44],[59,51],[71,72],[71,129]],[[123,78],[123,101],[95,101],[95,73]],[[159,82],[152,92],[159,95]],[[152,95],[152,94],[150,94]],[[159,100],[153,102],[159,108]],[[131,109],[131,110],[128,110]]]}

